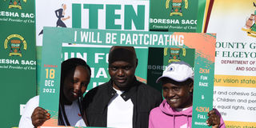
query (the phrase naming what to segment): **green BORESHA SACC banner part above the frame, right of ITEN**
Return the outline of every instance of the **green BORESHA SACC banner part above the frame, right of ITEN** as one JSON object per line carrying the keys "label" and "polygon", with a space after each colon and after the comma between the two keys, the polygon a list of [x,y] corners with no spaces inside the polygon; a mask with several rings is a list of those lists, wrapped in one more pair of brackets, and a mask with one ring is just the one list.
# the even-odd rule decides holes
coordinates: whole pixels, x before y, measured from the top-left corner
{"label": "green BORESHA SACC banner part above the frame, right of ITEN", "polygon": [[150,30],[195,32],[197,18],[198,0],[150,0]]}

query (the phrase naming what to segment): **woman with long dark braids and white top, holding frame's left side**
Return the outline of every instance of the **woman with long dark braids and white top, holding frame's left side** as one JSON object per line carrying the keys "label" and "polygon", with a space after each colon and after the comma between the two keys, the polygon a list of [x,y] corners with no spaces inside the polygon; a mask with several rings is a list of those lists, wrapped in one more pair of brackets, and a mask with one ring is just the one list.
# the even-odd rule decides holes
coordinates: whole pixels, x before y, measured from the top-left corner
{"label": "woman with long dark braids and white top, holding frame's left side", "polygon": [[[82,98],[90,82],[90,66],[81,58],[70,58],[62,62],[58,126],[86,126],[82,119]],[[42,126],[50,114],[38,106],[39,96],[31,98],[19,122],[19,128]],[[34,111],[33,111],[34,110]],[[82,125],[81,125],[82,123]]]}

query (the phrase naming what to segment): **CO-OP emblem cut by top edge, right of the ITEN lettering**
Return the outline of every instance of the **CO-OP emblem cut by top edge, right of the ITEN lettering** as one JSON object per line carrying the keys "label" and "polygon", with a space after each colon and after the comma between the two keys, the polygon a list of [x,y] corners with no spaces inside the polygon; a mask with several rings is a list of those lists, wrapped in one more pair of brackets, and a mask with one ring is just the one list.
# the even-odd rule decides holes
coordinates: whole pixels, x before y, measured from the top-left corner
{"label": "CO-OP emblem cut by top edge, right of the ITEN lettering", "polygon": [[170,10],[170,16],[179,15],[183,16],[183,9],[187,10],[188,0],[166,0],[166,9]]}

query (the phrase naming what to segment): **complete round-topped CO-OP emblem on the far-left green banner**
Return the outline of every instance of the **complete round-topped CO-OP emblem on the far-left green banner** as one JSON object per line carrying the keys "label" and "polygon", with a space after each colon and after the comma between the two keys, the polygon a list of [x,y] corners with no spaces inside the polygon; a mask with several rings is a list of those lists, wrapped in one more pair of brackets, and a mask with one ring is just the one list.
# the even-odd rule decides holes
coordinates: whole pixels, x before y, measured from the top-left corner
{"label": "complete round-topped CO-OP emblem on the far-left green banner", "polygon": [[5,50],[10,48],[9,56],[22,57],[22,47],[26,50],[26,40],[19,34],[10,34],[4,42]]}

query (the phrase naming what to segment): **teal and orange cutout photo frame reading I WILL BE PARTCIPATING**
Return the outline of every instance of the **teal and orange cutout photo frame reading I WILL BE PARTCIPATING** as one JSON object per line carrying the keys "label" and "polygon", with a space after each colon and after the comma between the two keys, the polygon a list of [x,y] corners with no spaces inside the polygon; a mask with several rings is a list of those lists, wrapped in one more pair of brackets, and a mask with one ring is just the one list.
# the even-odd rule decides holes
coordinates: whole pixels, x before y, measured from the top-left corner
{"label": "teal and orange cutout photo frame reading I WILL BE PARTCIPATING", "polygon": [[[206,114],[212,109],[214,83],[214,44],[215,34],[198,33],[161,33],[125,30],[86,30],[44,27],[42,46],[42,74],[40,87],[40,104],[54,115],[45,123],[57,126],[58,92],[60,81],[60,64],[62,62],[62,43],[75,43],[97,46],[135,46],[135,47],[174,47],[195,50],[194,55],[194,101],[192,126],[206,126]],[[92,35],[85,38],[85,34]],[[52,36],[54,35],[54,36]],[[81,36],[82,35],[82,36]],[[91,40],[89,40],[89,37]],[[46,70],[52,71],[54,78],[46,78]],[[49,73],[49,72],[48,72]],[[46,81],[54,85],[45,85]],[[43,90],[55,90],[54,93]],[[206,126],[208,127],[208,126]]]}

